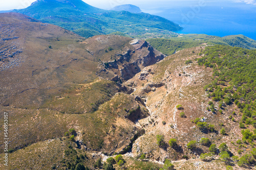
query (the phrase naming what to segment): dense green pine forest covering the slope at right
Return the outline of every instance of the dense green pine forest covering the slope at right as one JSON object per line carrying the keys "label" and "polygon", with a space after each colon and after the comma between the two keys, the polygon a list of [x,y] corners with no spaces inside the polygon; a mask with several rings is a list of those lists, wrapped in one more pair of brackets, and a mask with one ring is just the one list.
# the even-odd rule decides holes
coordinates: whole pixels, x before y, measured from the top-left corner
{"label": "dense green pine forest covering the slope at right", "polygon": [[[198,64],[206,67],[212,65],[215,71],[214,81],[205,86],[205,90],[210,92],[209,96],[214,101],[223,100],[225,105],[234,103],[240,108],[243,113],[240,128],[245,128],[244,123],[256,127],[256,50],[216,45],[206,47],[204,54],[203,58],[197,60]],[[222,87],[220,82],[229,86]],[[222,129],[221,133],[225,134],[225,130]],[[249,132],[244,133],[244,139],[249,139]],[[251,137],[250,140],[252,139]]]}

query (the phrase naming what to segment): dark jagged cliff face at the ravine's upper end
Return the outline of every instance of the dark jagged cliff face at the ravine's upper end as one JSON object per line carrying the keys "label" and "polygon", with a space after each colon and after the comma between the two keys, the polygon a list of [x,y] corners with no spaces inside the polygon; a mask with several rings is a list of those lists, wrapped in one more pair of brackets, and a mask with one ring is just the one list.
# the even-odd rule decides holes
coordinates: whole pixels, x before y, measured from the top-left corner
{"label": "dark jagged cliff face at the ravine's upper end", "polygon": [[133,78],[144,67],[166,57],[146,41],[135,39],[130,44],[126,53],[116,54],[119,56],[118,59],[99,65],[97,74],[113,81],[126,81]]}

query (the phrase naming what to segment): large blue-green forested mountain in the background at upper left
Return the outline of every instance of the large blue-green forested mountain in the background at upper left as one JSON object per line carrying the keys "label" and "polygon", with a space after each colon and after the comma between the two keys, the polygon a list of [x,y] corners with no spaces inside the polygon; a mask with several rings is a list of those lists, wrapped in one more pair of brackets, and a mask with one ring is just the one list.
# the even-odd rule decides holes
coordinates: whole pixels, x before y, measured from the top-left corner
{"label": "large blue-green forested mountain in the background at upper left", "polygon": [[81,0],[38,0],[26,9],[14,10],[51,23],[81,36],[122,32],[130,36],[145,33],[169,34],[182,28],[165,18],[146,13],[108,11],[92,7]]}

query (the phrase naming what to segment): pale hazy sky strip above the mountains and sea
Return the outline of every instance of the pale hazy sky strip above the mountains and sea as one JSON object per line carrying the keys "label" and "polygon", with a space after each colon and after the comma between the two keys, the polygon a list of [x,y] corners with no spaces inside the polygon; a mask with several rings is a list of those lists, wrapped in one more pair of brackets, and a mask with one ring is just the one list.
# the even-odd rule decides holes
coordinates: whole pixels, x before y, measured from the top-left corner
{"label": "pale hazy sky strip above the mountains and sea", "polygon": [[[31,3],[35,2],[35,0],[0,0],[0,10],[11,10],[11,9],[23,9],[31,5]],[[196,4],[200,2],[223,2],[220,0],[83,0],[84,2],[92,5],[94,7],[98,7],[101,9],[111,9],[118,5],[123,4],[133,4],[139,6],[141,9],[153,9],[156,6],[160,7],[161,4],[167,5],[181,5],[182,3],[185,5]],[[246,4],[254,4],[256,5],[256,0],[226,0],[233,2],[244,2]],[[184,3],[185,2],[185,3]],[[165,6],[162,6],[165,7]]]}

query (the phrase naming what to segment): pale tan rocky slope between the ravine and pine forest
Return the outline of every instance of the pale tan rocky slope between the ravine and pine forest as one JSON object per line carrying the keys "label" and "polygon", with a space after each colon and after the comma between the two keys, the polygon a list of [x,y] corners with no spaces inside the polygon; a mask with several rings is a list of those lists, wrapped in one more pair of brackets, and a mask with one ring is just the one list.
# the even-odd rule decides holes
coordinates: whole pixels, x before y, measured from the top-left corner
{"label": "pale tan rocky slope between the ravine and pine forest", "polygon": [[[229,119],[228,114],[207,110],[210,99],[204,86],[211,82],[209,78],[212,76],[212,69],[199,66],[196,62],[196,58],[199,58],[196,54],[203,48],[185,49],[166,57],[157,64],[145,67],[124,83],[135,89],[132,95],[140,96],[150,111],[150,116],[139,119],[137,123],[145,129],[145,134],[133,142],[132,153],[135,157],[145,154],[146,158],[159,162],[164,162],[165,159],[183,159],[184,155],[188,158],[199,158],[201,153],[208,152],[208,148],[199,142],[202,137],[215,141],[217,145],[226,142],[231,146],[230,151],[238,156],[232,143],[242,138],[241,129],[236,128],[239,123]],[[188,59],[193,63],[185,64]],[[182,105],[182,109],[177,109],[177,105]],[[217,103],[215,109],[220,109]],[[233,111],[236,111],[236,108],[232,106],[225,110],[226,113]],[[185,116],[181,116],[181,112],[184,112]],[[201,122],[214,125],[215,131],[205,131],[191,122],[197,117],[201,118]],[[234,117],[239,119],[241,115]],[[232,135],[223,136],[218,133],[222,128],[219,123],[222,122],[231,125],[232,128],[226,126],[225,130]],[[162,145],[157,144],[157,135],[163,137]],[[170,138],[177,139],[177,147],[169,146]],[[191,140],[199,142],[194,150],[189,150],[186,145]]]}

